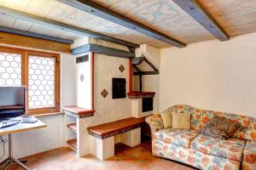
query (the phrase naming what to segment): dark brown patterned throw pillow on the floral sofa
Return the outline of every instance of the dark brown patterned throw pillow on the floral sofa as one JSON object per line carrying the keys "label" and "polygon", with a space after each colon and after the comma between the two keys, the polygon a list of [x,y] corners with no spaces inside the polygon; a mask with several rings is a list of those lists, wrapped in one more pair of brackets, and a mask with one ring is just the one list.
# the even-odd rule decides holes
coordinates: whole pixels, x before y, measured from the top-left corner
{"label": "dark brown patterned throw pillow on the floral sofa", "polygon": [[200,133],[219,139],[228,139],[239,127],[239,123],[232,122],[224,116],[214,116],[201,128]]}

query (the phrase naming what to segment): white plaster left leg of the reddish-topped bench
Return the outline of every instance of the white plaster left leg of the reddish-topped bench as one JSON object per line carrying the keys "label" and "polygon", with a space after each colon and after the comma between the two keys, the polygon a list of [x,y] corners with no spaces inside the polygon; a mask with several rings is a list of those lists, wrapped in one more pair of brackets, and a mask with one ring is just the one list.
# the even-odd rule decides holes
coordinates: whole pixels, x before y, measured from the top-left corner
{"label": "white plaster left leg of the reddish-topped bench", "polygon": [[114,136],[107,139],[91,137],[90,144],[91,153],[99,160],[104,161],[114,156]]}

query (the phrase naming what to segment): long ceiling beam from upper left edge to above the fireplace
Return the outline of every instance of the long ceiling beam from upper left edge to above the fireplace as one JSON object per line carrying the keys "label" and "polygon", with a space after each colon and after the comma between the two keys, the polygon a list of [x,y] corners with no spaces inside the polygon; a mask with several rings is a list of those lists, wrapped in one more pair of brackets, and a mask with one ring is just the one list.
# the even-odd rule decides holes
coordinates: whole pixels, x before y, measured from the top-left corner
{"label": "long ceiling beam from upper left edge to above the fireplace", "polygon": [[94,31],[90,31],[90,30],[86,30],[83,28],[79,28],[77,26],[70,26],[55,20],[49,20],[43,17],[39,17],[37,15],[33,15],[33,14],[27,14],[24,12],[21,12],[19,10],[15,10],[13,8],[7,8],[4,7],[2,5],[0,5],[0,12],[2,12],[3,14],[6,14],[10,17],[13,17],[15,19],[20,19],[20,20],[26,20],[26,21],[30,21],[33,23],[37,23],[43,26],[49,26],[52,28],[56,28],[56,29],[60,29],[63,31],[69,31],[69,32],[73,32],[73,33],[77,33],[86,37],[95,37],[97,39],[102,39],[108,42],[114,42],[114,43],[119,43],[122,45],[125,45],[127,47],[132,47],[132,48],[139,48],[140,46],[136,43],[132,43],[132,42],[126,42],[124,40],[115,38],[115,37],[109,37],[106,35],[103,35],[101,33],[98,32],[94,32]]}

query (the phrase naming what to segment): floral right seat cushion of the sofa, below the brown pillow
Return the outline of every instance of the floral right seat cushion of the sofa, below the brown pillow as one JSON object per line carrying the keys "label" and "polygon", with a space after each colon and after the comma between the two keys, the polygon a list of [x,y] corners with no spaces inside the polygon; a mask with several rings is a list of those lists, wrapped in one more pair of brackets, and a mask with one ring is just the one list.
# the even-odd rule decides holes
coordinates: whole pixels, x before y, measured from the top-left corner
{"label": "floral right seat cushion of the sofa, below the brown pillow", "polygon": [[198,135],[191,142],[191,149],[201,151],[212,156],[221,156],[235,161],[241,161],[245,140],[230,138],[227,140]]}

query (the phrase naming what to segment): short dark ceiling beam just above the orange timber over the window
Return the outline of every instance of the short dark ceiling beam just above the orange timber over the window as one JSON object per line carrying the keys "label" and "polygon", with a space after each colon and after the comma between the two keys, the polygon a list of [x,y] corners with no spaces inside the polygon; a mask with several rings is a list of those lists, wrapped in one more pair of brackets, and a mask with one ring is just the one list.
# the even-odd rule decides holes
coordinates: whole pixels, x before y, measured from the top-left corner
{"label": "short dark ceiling beam just above the orange timber over the window", "polygon": [[35,37],[38,39],[43,39],[43,40],[49,40],[52,42],[61,42],[61,43],[67,43],[67,44],[72,44],[73,40],[68,40],[60,37],[52,37],[44,34],[38,34],[34,33],[31,31],[23,31],[23,30],[18,30],[15,28],[9,28],[6,26],[0,26],[0,32],[7,32],[15,35],[20,35],[20,36],[26,36],[26,37]]}

